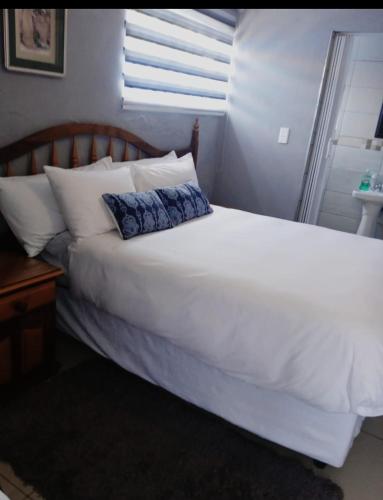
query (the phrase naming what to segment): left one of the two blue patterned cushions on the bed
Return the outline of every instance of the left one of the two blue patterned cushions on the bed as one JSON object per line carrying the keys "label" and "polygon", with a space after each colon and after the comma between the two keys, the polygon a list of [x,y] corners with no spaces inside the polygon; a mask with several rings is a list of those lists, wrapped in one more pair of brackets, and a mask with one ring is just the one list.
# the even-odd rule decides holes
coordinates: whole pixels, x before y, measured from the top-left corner
{"label": "left one of the two blue patterned cushions on the bed", "polygon": [[161,199],[155,191],[102,195],[124,240],[138,234],[173,227]]}

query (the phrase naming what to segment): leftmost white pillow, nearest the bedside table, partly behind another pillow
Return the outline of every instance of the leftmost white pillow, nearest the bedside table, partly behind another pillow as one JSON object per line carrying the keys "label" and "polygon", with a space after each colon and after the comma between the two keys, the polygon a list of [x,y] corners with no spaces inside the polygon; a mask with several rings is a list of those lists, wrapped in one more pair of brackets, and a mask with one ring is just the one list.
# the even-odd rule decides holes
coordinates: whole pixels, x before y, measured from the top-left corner
{"label": "leftmost white pillow, nearest the bedside table, partly behind another pillow", "polygon": [[[110,156],[77,170],[107,170]],[[57,170],[62,170],[59,167]],[[0,211],[29,257],[66,226],[45,174],[0,178]]]}

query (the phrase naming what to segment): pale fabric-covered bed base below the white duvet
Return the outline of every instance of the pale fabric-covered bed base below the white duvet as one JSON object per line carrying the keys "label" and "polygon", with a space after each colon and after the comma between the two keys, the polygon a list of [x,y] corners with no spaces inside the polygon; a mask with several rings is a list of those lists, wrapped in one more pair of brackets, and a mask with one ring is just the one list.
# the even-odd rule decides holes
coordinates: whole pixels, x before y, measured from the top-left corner
{"label": "pale fabric-covered bed base below the white duvet", "polygon": [[329,413],[206,365],[167,339],[128,324],[58,287],[59,330],[99,354],[257,436],[341,467],[363,418]]}

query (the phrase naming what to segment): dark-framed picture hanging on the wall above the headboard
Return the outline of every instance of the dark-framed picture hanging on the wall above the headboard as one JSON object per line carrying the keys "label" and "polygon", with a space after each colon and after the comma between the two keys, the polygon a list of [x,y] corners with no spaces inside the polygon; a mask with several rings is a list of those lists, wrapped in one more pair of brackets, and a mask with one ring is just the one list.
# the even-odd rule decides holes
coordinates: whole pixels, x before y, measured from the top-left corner
{"label": "dark-framed picture hanging on the wall above the headboard", "polygon": [[5,67],[65,75],[67,9],[4,9]]}

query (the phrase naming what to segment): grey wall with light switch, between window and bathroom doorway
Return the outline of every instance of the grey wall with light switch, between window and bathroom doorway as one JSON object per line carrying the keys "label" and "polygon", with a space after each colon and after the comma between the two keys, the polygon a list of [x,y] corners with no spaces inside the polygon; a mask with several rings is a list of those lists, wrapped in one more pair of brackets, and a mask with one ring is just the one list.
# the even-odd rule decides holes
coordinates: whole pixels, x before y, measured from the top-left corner
{"label": "grey wall with light switch, between window and bathroom doorway", "polygon": [[[247,9],[214,200],[293,219],[333,30],[383,32],[381,9]],[[278,144],[290,127],[288,144]]]}

